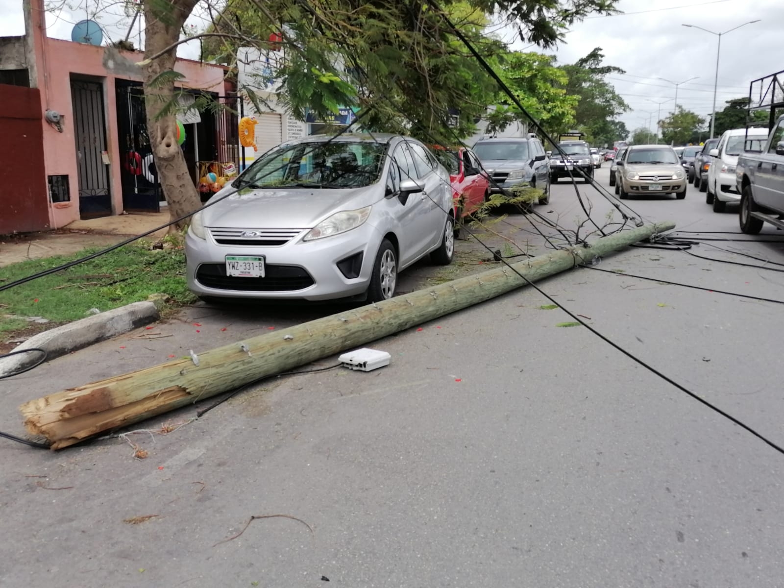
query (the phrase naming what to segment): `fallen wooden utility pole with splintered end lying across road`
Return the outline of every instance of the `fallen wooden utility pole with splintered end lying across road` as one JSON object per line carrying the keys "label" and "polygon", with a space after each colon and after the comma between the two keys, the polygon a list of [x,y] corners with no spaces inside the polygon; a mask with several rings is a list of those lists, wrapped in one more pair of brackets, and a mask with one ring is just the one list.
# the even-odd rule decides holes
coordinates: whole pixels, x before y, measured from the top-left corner
{"label": "fallen wooden utility pole with splintered end lying across road", "polygon": [[[659,223],[514,263],[529,281],[591,263],[597,257],[675,227]],[[340,351],[500,296],[527,282],[503,266],[381,303],[332,314],[162,365],[114,376],[26,402],[24,426],[53,449],[286,372]]]}

